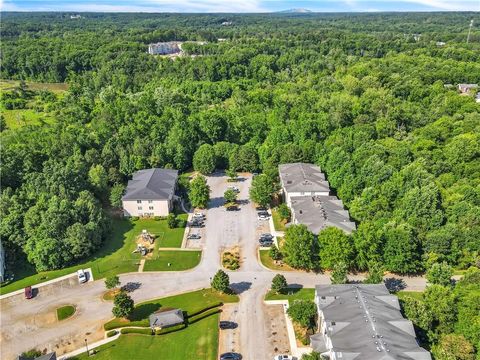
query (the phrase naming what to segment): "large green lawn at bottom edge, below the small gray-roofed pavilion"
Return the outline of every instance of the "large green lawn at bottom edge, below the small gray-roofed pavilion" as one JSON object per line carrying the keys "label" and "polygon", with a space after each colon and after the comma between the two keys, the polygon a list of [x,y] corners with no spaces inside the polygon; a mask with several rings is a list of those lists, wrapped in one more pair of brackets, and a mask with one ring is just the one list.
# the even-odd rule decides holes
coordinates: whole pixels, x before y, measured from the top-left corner
{"label": "large green lawn at bottom edge, below the small gray-roofed pavilion", "polygon": [[[215,360],[218,357],[219,314],[167,335],[128,334],[98,347],[97,360],[168,359]],[[86,353],[71,358],[89,359]]]}

